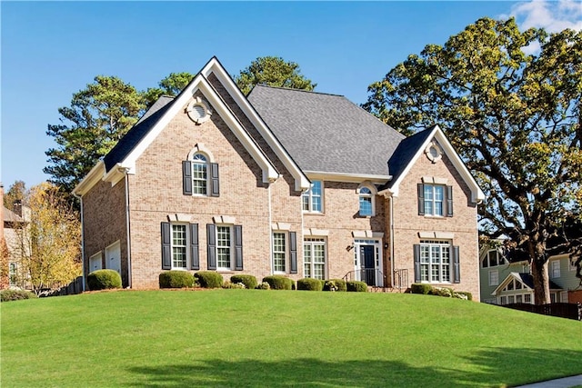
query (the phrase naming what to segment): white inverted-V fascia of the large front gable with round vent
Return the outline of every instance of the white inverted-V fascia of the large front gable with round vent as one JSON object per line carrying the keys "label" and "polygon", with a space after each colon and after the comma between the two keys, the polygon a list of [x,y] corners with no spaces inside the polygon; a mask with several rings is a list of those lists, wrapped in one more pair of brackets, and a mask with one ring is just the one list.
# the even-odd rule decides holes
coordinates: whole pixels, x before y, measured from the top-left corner
{"label": "white inverted-V fascia of the large front gable with round vent", "polygon": [[238,123],[235,116],[228,110],[222,99],[216,94],[214,88],[208,84],[203,75],[196,75],[190,85],[186,86],[186,90],[182,92],[173,103],[171,103],[172,106],[170,106],[166,113],[158,120],[149,133],[144,136],[139,144],[135,146],[134,150],[125,157],[120,165],[128,168],[132,173],[134,173],[135,162],[139,156],[146,151],[147,147],[152,144],[157,135],[166,128],[166,125],[170,123],[183,106],[186,105],[192,95],[195,95],[198,90],[205,95],[210,104],[215,108],[216,113],[225,120],[228,127],[236,135],[236,138],[245,146],[246,151],[248,151],[248,153],[253,156],[256,163],[259,164],[263,170],[263,182],[269,183],[276,180],[279,174],[276,171],[275,166],[273,166],[268,159],[266,159],[266,156],[258,149],[255,142],[253,142],[245,129]]}

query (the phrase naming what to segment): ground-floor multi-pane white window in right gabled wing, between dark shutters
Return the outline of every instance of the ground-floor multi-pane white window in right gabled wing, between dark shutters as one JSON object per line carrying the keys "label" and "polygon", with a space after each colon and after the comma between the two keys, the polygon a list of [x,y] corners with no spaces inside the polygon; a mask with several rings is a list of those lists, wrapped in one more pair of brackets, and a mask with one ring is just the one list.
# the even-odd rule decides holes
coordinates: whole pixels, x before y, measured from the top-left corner
{"label": "ground-floor multi-pane white window in right gabled wing, between dark shutters", "polygon": [[452,246],[448,241],[423,240],[420,242],[421,282],[451,282],[451,250]]}

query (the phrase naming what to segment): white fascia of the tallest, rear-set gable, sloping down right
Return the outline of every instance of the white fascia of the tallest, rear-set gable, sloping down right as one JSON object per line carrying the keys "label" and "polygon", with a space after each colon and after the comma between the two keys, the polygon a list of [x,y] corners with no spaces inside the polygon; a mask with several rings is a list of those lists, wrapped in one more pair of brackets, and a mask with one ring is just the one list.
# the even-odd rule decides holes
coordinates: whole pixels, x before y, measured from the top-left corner
{"label": "white fascia of the tallest, rear-set gable, sloping down right", "polygon": [[281,162],[283,162],[287,170],[289,170],[289,172],[293,175],[295,179],[296,191],[304,191],[309,189],[311,183],[309,182],[309,179],[307,179],[306,174],[303,173],[293,158],[291,158],[291,156],[286,152],[286,149],[283,147],[283,145],[279,143],[263,119],[261,119],[260,116],[256,113],[255,108],[252,107],[246,97],[241,93],[230,75],[226,73],[225,68],[220,65],[216,57],[212,58],[200,73],[205,77],[211,74],[216,75],[216,78],[218,78],[220,83],[225,86],[226,91],[233,97],[236,104],[238,104],[243,113],[246,114],[246,117],[248,117],[251,123],[255,125],[256,129],[266,140],[266,143],[269,145],[269,147],[271,147],[276,156],[281,160]]}

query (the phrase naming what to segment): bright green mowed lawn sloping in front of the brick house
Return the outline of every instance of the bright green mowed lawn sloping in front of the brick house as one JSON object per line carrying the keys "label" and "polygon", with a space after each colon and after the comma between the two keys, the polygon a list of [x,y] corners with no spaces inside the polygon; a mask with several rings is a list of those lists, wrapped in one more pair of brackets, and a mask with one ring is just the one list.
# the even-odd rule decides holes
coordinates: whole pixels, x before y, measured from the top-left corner
{"label": "bright green mowed lawn sloping in front of the brick house", "polygon": [[582,373],[582,323],[396,293],[2,303],[2,387],[491,387]]}

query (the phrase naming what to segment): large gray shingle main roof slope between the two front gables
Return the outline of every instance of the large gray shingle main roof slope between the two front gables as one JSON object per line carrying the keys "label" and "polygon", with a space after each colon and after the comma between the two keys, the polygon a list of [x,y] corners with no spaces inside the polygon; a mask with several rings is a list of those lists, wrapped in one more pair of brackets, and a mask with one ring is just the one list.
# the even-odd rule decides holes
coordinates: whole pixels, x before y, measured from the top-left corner
{"label": "large gray shingle main roof slope between the two front gables", "polygon": [[405,138],[343,95],[257,85],[247,96],[304,171],[388,175]]}

